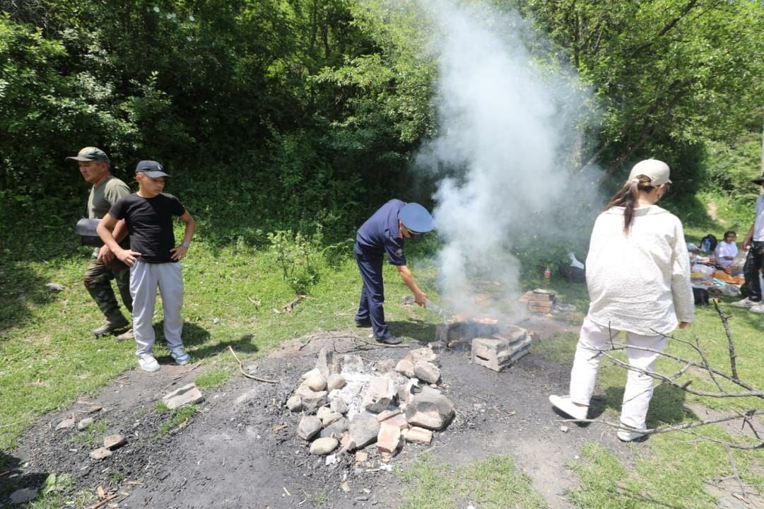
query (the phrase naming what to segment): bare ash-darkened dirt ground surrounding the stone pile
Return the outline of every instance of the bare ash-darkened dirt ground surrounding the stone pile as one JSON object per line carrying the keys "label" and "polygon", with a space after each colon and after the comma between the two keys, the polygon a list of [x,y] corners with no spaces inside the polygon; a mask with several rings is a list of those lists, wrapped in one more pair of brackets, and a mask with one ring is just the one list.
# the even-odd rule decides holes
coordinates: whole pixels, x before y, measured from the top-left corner
{"label": "bare ash-darkened dirt ground surrounding the stone pile", "polygon": [[[562,327],[551,320],[524,325],[542,330],[542,338]],[[130,371],[98,397],[38,420],[24,433],[11,462],[28,462],[24,475],[0,481],[7,490],[9,483],[12,488],[39,485],[48,472],[67,472],[77,488],[90,492],[118,484],[118,507],[396,507],[399,483],[392,472],[380,470],[388,465],[374,447],[365,449],[371,457],[363,464],[344,455],[337,464],[325,465],[324,458],[309,455],[294,433],[299,416],[284,408],[300,374],[315,365],[321,346],[344,352],[352,343],[315,338],[302,350],[296,345],[255,363],[257,374],[277,378],[279,384],[236,376],[218,391],[207,392],[189,424],[164,438],[157,433],[167,413],[157,412],[157,400],[193,381],[198,371],[170,365],[157,374]],[[379,361],[403,358],[406,352],[374,349],[360,355]],[[585,442],[602,441],[623,452],[614,433],[601,427],[560,430],[560,417],[547,396],[565,392],[568,366],[533,353],[503,373],[471,365],[465,352],[442,353],[440,359],[442,390],[457,408],[455,420],[435,434],[431,447],[406,444],[389,465],[405,466],[425,450],[459,463],[507,453],[556,509],[571,507],[564,493],[575,487],[576,479],[566,465],[577,461]],[[108,422],[106,434],[121,433],[128,439],[102,462],[89,459],[95,445],[73,438],[78,432],[53,430],[61,419],[91,404],[104,407],[95,416]],[[348,492],[342,490],[343,482]]]}

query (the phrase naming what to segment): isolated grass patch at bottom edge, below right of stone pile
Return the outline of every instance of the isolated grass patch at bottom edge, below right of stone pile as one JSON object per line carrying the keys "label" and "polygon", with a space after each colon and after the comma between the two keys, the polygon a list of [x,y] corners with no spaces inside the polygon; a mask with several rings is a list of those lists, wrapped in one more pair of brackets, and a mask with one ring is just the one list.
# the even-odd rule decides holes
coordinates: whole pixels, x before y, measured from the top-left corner
{"label": "isolated grass patch at bottom edge, below right of stone pile", "polygon": [[537,509],[546,507],[533,491],[527,475],[516,472],[512,458],[492,456],[481,462],[453,466],[429,454],[419,456],[405,470],[401,509]]}

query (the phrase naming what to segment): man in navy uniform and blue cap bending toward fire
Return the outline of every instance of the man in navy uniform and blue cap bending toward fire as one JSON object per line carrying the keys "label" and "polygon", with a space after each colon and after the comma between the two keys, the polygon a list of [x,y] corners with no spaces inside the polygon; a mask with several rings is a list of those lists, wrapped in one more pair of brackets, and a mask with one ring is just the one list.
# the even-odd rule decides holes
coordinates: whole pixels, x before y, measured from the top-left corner
{"label": "man in navy uniform and blue cap bending toward fire", "polygon": [[355,237],[355,261],[364,280],[361,303],[355,314],[355,324],[374,330],[374,339],[387,345],[396,345],[401,340],[390,333],[384,321],[384,284],[382,281],[382,261],[387,253],[390,264],[398,267],[403,283],[414,294],[419,306],[424,306],[426,294],[416,286],[411,271],[406,267],[403,254],[403,239],[410,238],[433,228],[432,216],[419,203],[405,203],[391,199],[367,219]]}

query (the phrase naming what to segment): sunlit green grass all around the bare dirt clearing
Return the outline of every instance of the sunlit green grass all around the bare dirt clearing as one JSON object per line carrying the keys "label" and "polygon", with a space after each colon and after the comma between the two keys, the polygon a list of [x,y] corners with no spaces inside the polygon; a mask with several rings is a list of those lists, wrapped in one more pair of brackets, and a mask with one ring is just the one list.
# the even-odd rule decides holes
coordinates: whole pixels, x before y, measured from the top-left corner
{"label": "sunlit green grass all around the bare dirt clearing", "polygon": [[[717,201],[720,213],[727,203]],[[743,224],[737,214],[727,222],[700,217],[691,210],[680,214],[685,219],[689,240],[700,239],[708,232],[721,232],[730,225]],[[689,221],[688,221],[689,219]],[[63,228],[63,227],[62,227]],[[741,228],[742,230],[742,228]],[[102,320],[98,309],[82,287],[81,277],[89,251],[77,248],[56,225],[32,237],[50,237],[51,242],[32,242],[20,236],[6,244],[0,256],[0,467],[13,462],[12,450],[20,433],[32,421],[50,410],[67,407],[82,394],[95,394],[116,374],[134,368],[134,345],[117,343],[111,338],[94,339],[90,330]],[[57,235],[60,235],[57,237]],[[422,242],[423,241],[423,242]],[[437,270],[426,260],[432,242],[422,239],[410,249],[416,264],[413,271],[420,286],[438,299],[435,291]],[[54,246],[54,247],[51,247]],[[319,261],[318,280],[309,289],[309,299],[300,302],[292,313],[282,306],[293,300],[294,291],[282,278],[274,252],[254,248],[244,242],[221,247],[208,241],[200,232],[189,258],[184,262],[186,282],[183,307],[183,340],[193,362],[203,361],[196,376],[199,387],[219,387],[235,372],[237,365],[228,352],[230,345],[243,361],[264,355],[280,343],[319,330],[348,329],[358,305],[361,282],[354,261],[334,255],[332,263]],[[48,282],[64,285],[54,293],[44,288]],[[400,306],[408,290],[394,267],[385,267],[385,311],[397,334],[410,339],[434,337],[433,316],[418,306]],[[524,289],[549,287],[558,299],[571,303],[576,311],[565,319],[581,323],[588,297],[583,284],[568,284],[553,274],[545,284],[542,274],[523,274]],[[7,297],[5,297],[7,296]],[[723,304],[730,319],[738,353],[741,378],[764,387],[764,358],[760,332],[764,316],[753,315]],[[163,347],[161,309],[157,306],[157,356],[160,363],[171,361]],[[677,337],[697,341],[707,352],[712,365],[727,365],[727,340],[712,308],[698,308],[690,329],[678,331]],[[570,365],[576,335],[567,334],[545,340],[534,351]],[[678,342],[669,343],[669,352],[691,355]],[[222,354],[222,355],[219,355]],[[676,371],[672,361],[661,359],[659,370]],[[711,381],[693,374],[693,387],[711,388]],[[604,363],[597,382],[597,404],[616,414],[620,411],[623,382],[621,368]],[[694,397],[670,387],[658,387],[648,415],[649,425],[680,423],[694,419],[685,410],[687,404],[699,404],[714,410],[748,407],[751,401]],[[196,412],[196,407],[170,412],[157,404],[157,411],[168,417],[157,430],[157,438],[167,436]],[[612,416],[611,416],[612,417]],[[77,435],[79,440],[97,440],[105,433],[105,421]],[[720,427],[703,430],[711,436],[725,436]],[[714,507],[714,498],[706,491],[709,478],[730,474],[727,452],[720,446],[703,442],[682,433],[653,436],[646,444],[628,447],[633,462],[597,444],[588,444],[581,460],[571,465],[581,480],[581,487],[568,494],[576,507]],[[734,452],[741,475],[749,485],[762,485],[761,452]],[[0,468],[2,470],[2,468]],[[455,467],[432,456],[418,459],[406,471],[398,472],[404,482],[402,507],[543,507],[527,478],[515,472],[509,456],[497,456],[484,462]],[[40,495],[28,507],[58,507],[66,490],[66,478],[57,489]],[[116,482],[116,481],[115,481]],[[60,489],[58,489],[60,488]],[[753,489],[753,488],[752,488]],[[325,494],[316,496],[322,504]],[[63,503],[63,502],[62,502]],[[323,504],[326,501],[324,499]],[[514,505],[513,505],[514,504]]]}

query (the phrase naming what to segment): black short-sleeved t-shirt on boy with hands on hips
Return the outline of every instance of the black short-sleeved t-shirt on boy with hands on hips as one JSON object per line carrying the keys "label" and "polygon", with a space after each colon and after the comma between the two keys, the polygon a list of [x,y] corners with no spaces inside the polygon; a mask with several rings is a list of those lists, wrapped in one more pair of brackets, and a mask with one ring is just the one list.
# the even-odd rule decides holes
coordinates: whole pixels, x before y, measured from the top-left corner
{"label": "black short-sleeved t-shirt on boy with hands on hips", "polygon": [[175,196],[165,193],[154,198],[133,193],[119,199],[108,210],[115,219],[125,219],[131,250],[141,253],[141,260],[150,264],[174,261],[170,252],[175,247],[173,216],[183,216],[185,212]]}

